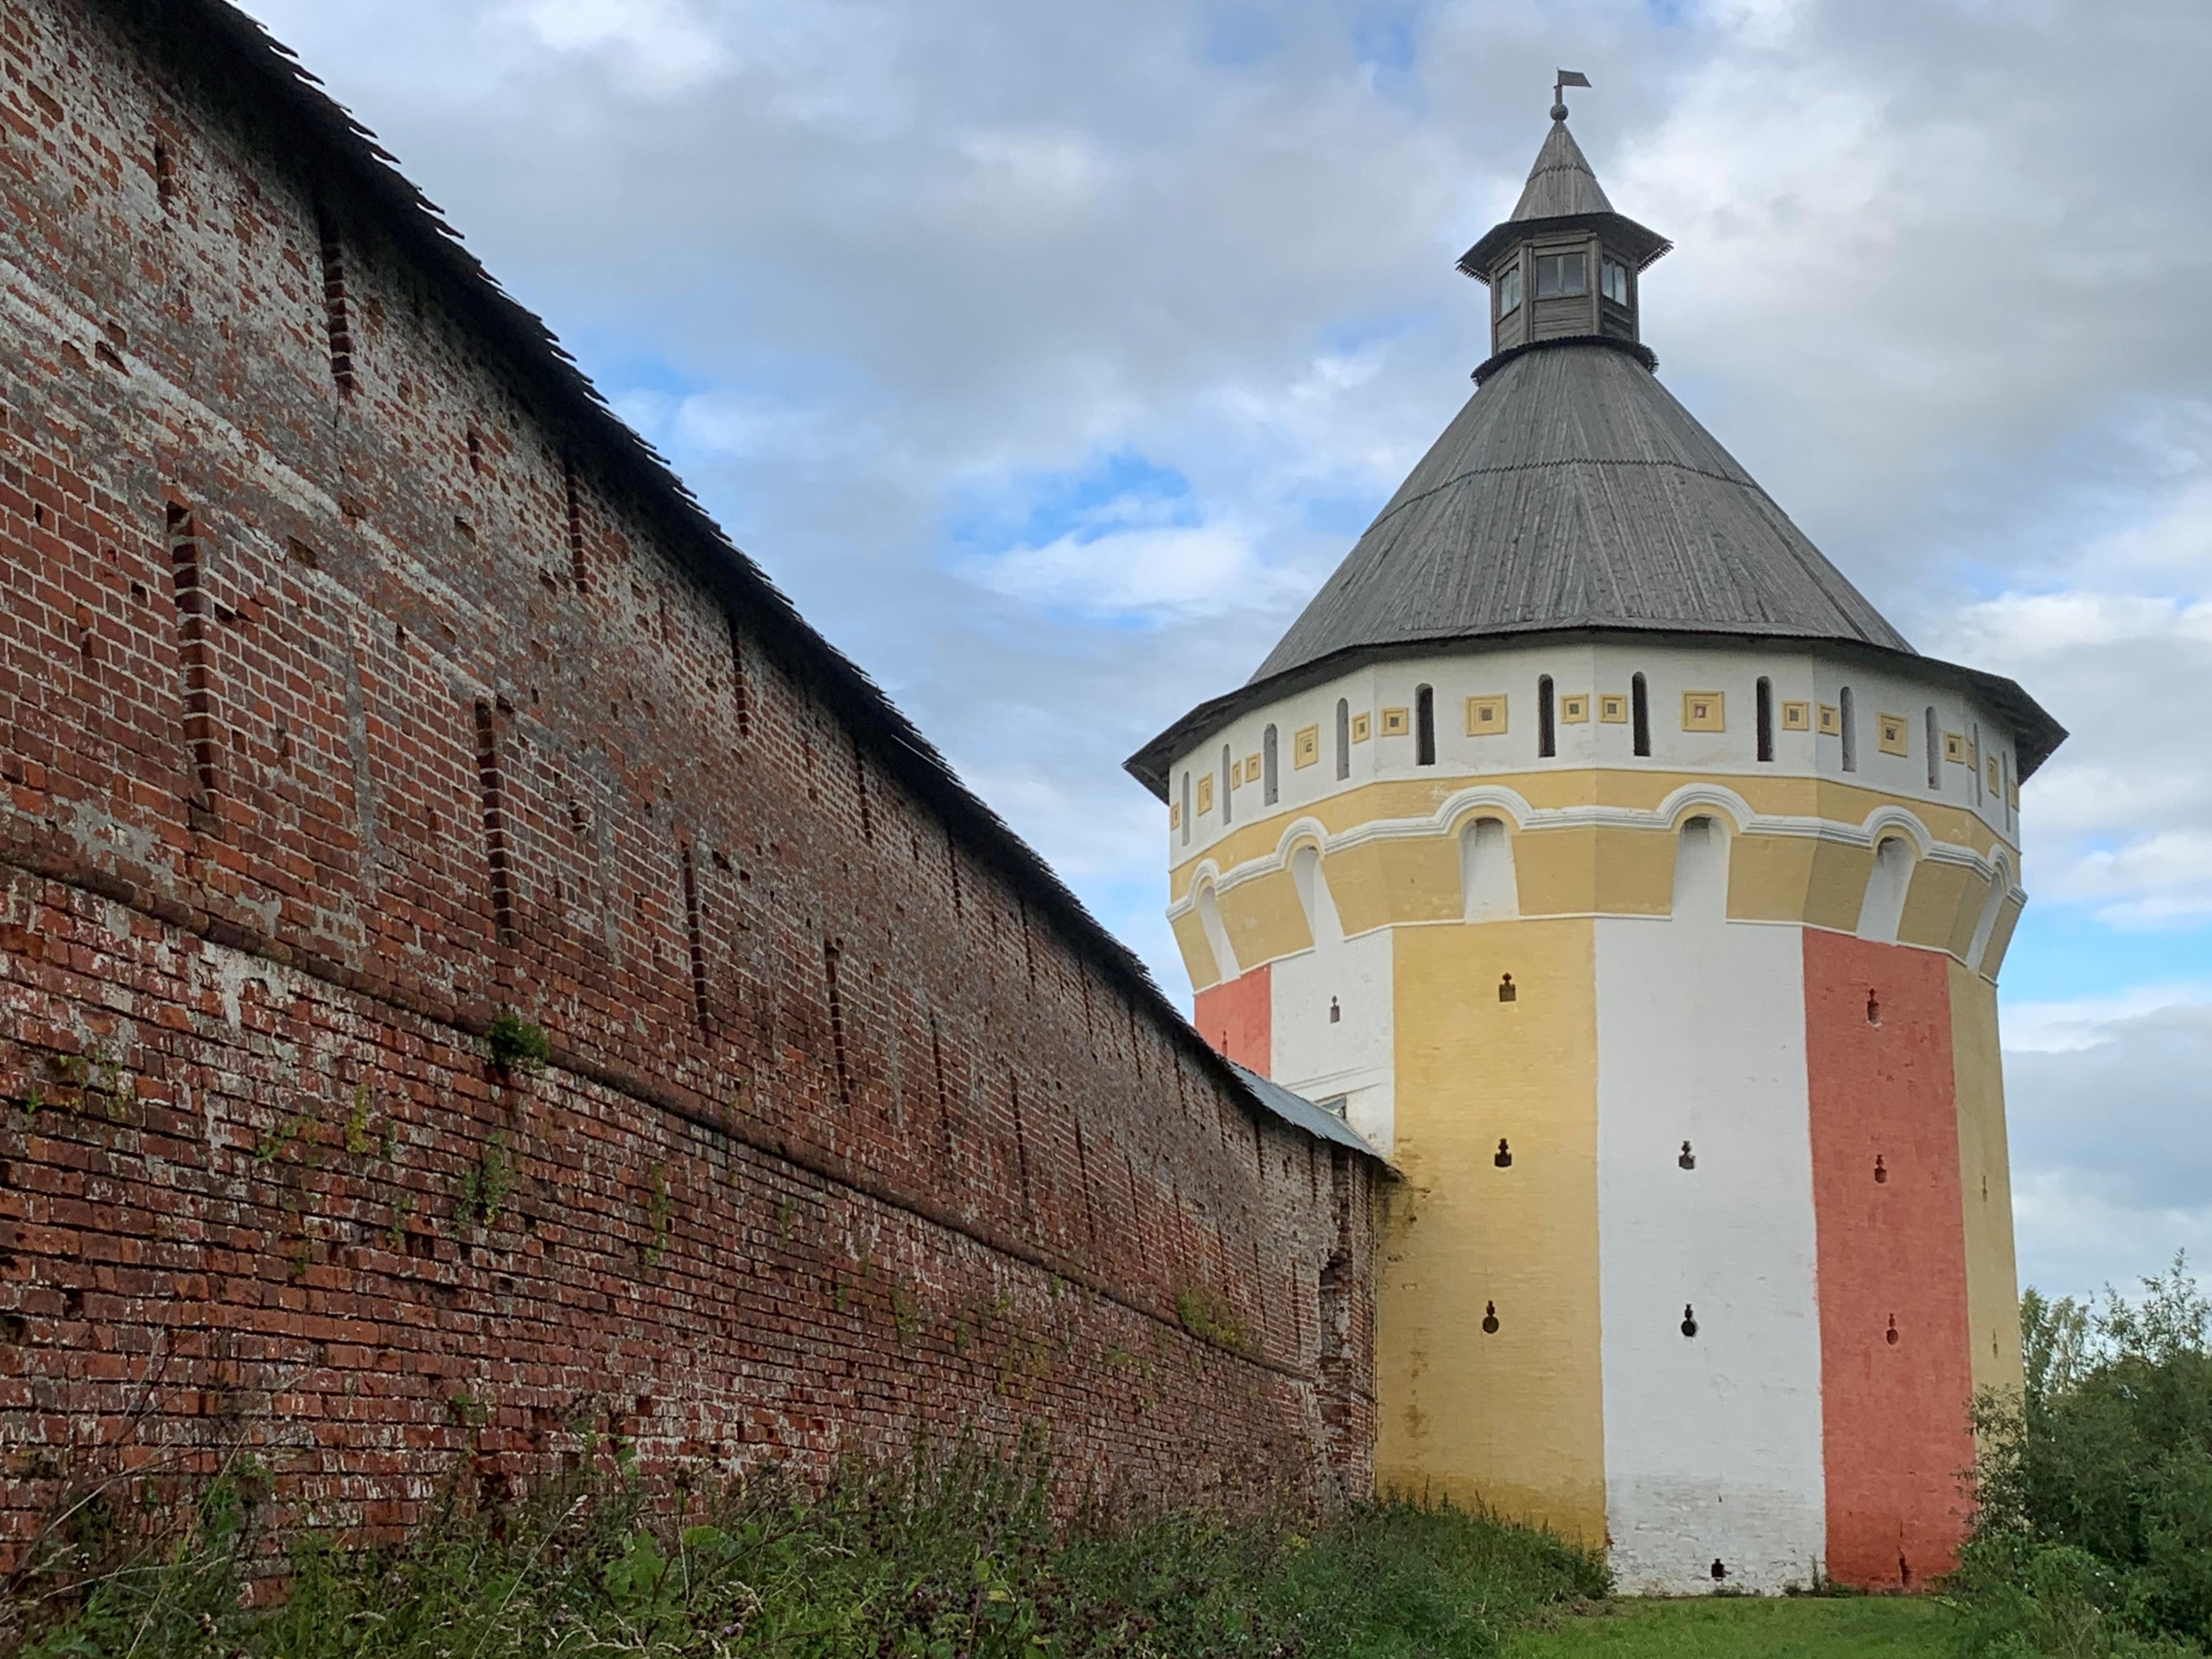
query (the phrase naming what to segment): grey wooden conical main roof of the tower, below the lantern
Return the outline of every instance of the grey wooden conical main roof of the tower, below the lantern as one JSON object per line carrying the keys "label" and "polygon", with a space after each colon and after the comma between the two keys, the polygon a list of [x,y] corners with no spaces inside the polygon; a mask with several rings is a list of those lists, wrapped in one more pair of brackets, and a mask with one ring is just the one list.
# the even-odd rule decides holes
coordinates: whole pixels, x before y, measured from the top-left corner
{"label": "grey wooden conical main roof of the tower, below the lantern", "polygon": [[1650,369],[1577,343],[1484,380],[1252,679],[1553,628],[1911,650]]}

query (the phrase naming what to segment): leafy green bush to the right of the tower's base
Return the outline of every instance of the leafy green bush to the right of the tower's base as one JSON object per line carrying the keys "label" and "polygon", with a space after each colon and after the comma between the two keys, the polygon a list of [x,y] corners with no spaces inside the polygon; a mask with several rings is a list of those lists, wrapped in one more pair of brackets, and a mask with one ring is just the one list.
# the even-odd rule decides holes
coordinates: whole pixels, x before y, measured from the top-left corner
{"label": "leafy green bush to the right of the tower's base", "polygon": [[1978,1407],[1953,1579],[1978,1655],[2212,1644],[2212,1303],[2185,1263],[2126,1301],[2020,1298],[2026,1389]]}

